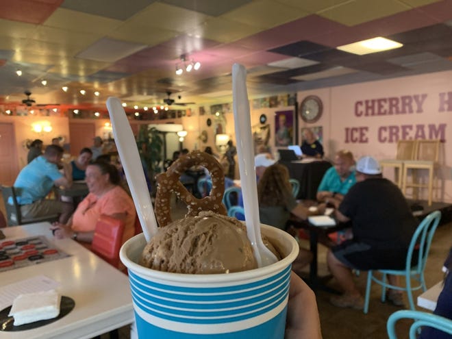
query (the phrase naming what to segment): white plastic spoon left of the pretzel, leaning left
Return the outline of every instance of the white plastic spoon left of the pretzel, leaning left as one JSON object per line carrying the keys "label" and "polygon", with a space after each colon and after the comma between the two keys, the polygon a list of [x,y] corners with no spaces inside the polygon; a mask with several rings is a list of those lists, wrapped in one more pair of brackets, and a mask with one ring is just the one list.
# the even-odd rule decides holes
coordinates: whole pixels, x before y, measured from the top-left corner
{"label": "white plastic spoon left of the pretzel, leaning left", "polygon": [[134,134],[118,98],[108,98],[107,108],[112,121],[114,142],[118,149],[119,158],[121,158],[123,163],[125,178],[134,199],[141,228],[145,234],[146,241],[149,242],[157,232],[157,221],[155,220],[151,197],[147,190],[145,173],[143,172]]}

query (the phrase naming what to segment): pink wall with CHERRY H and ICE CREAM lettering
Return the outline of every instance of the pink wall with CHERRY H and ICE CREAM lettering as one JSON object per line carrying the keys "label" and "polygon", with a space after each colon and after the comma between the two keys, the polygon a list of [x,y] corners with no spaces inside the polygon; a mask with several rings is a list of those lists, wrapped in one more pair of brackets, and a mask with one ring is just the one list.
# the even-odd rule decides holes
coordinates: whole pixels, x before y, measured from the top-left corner
{"label": "pink wall with CHERRY H and ICE CREAM lettering", "polygon": [[449,71],[323,88],[299,92],[298,101],[307,95],[318,95],[323,100],[323,116],[313,126],[323,126],[329,158],[339,149],[350,149],[356,158],[394,158],[399,138],[442,139],[438,175],[443,193],[439,198],[452,201],[452,157],[448,147],[451,79]]}

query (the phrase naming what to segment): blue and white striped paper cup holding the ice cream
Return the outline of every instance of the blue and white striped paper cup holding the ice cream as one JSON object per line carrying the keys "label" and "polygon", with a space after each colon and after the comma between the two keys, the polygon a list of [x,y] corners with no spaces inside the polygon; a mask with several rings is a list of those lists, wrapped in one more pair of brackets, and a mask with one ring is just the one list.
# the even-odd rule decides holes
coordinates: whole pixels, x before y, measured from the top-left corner
{"label": "blue and white striped paper cup holding the ice cream", "polygon": [[290,268],[299,245],[290,234],[262,225],[284,259],[250,271],[192,275],[151,270],[138,264],[143,234],[121,247],[139,338],[283,339]]}

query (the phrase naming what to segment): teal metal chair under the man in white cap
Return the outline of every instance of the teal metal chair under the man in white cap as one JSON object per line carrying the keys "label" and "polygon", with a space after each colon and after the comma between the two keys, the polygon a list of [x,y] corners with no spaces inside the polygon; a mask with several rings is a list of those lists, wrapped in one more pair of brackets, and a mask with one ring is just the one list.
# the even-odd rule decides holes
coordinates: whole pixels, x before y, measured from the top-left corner
{"label": "teal metal chair under the man in white cap", "polygon": [[[422,288],[423,291],[427,290],[424,279],[424,268],[425,263],[427,262],[431,240],[435,234],[436,227],[438,227],[438,223],[440,223],[440,218],[441,212],[435,211],[431,212],[428,216],[425,217],[423,221],[420,222],[412,236],[410,247],[408,248],[405,269],[377,270],[382,274],[381,279],[375,277],[375,275],[373,274],[374,271],[368,271],[366,297],[364,298],[364,313],[368,312],[372,281],[375,281],[377,284],[381,285],[381,301],[386,301],[386,288],[392,288],[394,290],[406,290],[408,294],[408,301],[410,303],[410,309],[416,310],[416,307],[414,306],[412,291],[418,290],[420,288]],[[414,252],[415,249],[418,249],[417,255]],[[403,277],[405,277],[406,286],[392,286],[386,281],[386,275],[402,275]],[[412,278],[419,281],[419,284],[417,286],[412,286]]]}

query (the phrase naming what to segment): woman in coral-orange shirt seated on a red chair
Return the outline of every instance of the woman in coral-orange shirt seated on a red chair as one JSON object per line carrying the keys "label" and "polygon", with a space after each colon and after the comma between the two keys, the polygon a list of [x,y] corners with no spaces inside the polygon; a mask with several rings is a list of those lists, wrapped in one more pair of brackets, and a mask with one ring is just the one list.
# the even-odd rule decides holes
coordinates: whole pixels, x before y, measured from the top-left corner
{"label": "woman in coral-orange shirt seated on a red chair", "polygon": [[54,223],[56,238],[73,238],[90,244],[97,219],[101,214],[125,221],[123,243],[134,236],[136,210],[134,202],[119,186],[121,178],[112,164],[95,161],[86,168],[86,184],[90,193],[77,206],[67,225]]}

